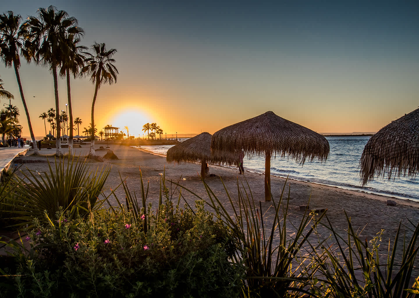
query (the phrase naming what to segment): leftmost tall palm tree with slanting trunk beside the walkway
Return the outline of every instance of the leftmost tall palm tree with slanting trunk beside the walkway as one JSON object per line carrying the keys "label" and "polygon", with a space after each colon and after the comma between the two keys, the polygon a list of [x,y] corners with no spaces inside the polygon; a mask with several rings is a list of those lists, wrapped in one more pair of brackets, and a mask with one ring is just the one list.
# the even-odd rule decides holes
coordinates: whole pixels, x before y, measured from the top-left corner
{"label": "leftmost tall palm tree with slanting trunk beside the walkway", "polygon": [[3,13],[0,15],[0,55],[6,67],[12,67],[13,65],[15,69],[23,108],[25,109],[26,119],[28,120],[29,133],[34,144],[34,154],[38,155],[39,150],[38,146],[36,146],[34,130],[32,130],[31,118],[29,117],[28,106],[26,106],[19,75],[19,67],[21,66],[19,51],[27,62],[31,61],[31,55],[26,49],[26,45],[29,43],[25,42],[25,37],[27,36],[26,25],[23,24],[21,26],[21,20],[22,17],[20,15],[15,16],[13,11],[8,11],[7,14]]}

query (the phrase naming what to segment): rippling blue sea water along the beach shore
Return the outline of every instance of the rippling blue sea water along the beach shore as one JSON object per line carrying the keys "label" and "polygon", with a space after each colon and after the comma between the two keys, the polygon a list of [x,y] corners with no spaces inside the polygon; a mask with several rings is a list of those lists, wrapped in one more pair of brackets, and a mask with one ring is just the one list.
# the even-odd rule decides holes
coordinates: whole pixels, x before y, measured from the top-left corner
{"label": "rippling blue sea water along the beach shore", "polygon": [[[411,199],[419,202],[418,177],[401,177],[400,179],[383,180],[374,178],[365,187],[361,186],[359,161],[362,150],[370,137],[326,137],[330,145],[330,154],[325,163],[318,161],[306,162],[301,166],[287,158],[272,158],[271,175],[291,179],[310,181],[320,184],[337,186],[345,189],[356,189],[365,192]],[[173,145],[141,146],[155,153],[166,154]],[[244,168],[248,171],[263,173],[265,159],[244,158]]]}

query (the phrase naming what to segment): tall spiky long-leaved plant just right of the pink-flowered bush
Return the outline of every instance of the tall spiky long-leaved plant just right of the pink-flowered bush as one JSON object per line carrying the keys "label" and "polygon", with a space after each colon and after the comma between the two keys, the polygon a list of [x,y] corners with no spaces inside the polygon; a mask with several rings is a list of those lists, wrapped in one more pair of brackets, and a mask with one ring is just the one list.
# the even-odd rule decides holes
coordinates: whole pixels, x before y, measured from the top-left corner
{"label": "tall spiky long-leaved plant just right of the pink-flowered bush", "polygon": [[[224,223],[233,231],[236,249],[234,261],[246,266],[247,274],[242,295],[244,297],[285,297],[293,293],[295,296],[300,294],[313,296],[314,291],[311,288],[316,287],[314,275],[318,265],[311,264],[310,271],[303,270],[298,264],[310,261],[297,259],[297,256],[325,212],[316,215],[306,210],[300,224],[293,226],[295,233],[290,236],[287,233],[290,192],[288,192],[287,200],[283,200],[285,185],[277,202],[271,196],[274,212],[271,215],[273,216],[272,223],[268,224],[264,221],[261,202],[259,206],[256,205],[247,180],[247,187],[243,183],[240,187],[237,182],[237,201],[233,199],[222,182],[233,214],[226,210],[205,181],[202,182],[209,197],[207,204],[220,213]],[[191,193],[202,199],[194,192]]]}

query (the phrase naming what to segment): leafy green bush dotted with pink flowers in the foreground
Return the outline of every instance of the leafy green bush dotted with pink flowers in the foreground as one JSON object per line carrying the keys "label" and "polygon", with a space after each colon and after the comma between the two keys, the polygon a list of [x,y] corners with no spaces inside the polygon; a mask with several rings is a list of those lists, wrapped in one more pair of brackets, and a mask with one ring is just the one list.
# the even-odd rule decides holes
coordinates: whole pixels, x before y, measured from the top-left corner
{"label": "leafy green bush dotted with pink flowers in the foreground", "polygon": [[[142,208],[142,212],[145,212]],[[67,220],[61,210],[48,225],[34,220],[29,254],[0,295],[21,297],[235,297],[243,268],[229,261],[229,233],[204,210],[169,200],[135,220],[125,206]],[[145,229],[146,228],[146,229]],[[147,231],[147,232],[145,232]],[[10,285],[10,284],[9,284]],[[1,285],[0,285],[1,287]],[[8,289],[13,289],[9,292]]]}

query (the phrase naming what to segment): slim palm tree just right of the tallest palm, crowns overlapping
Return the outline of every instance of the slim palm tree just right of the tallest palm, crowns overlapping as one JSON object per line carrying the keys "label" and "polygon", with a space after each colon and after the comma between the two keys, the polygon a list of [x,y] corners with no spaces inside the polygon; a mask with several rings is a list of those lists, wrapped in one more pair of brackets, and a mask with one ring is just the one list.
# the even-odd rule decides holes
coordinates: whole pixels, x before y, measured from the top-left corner
{"label": "slim palm tree just right of the tallest palm, crowns overlapping", "polygon": [[[79,28],[79,34],[83,34],[83,29]],[[75,34],[68,34],[65,42],[63,43],[63,60],[59,75],[67,79],[67,98],[68,98],[68,112],[70,114],[70,138],[68,140],[68,154],[72,154],[73,147],[73,113],[71,106],[71,90],[70,90],[70,73],[73,74],[74,78],[79,75],[79,70],[84,65],[84,56],[80,54],[82,49],[87,49],[84,46],[78,46],[80,39]]]}

